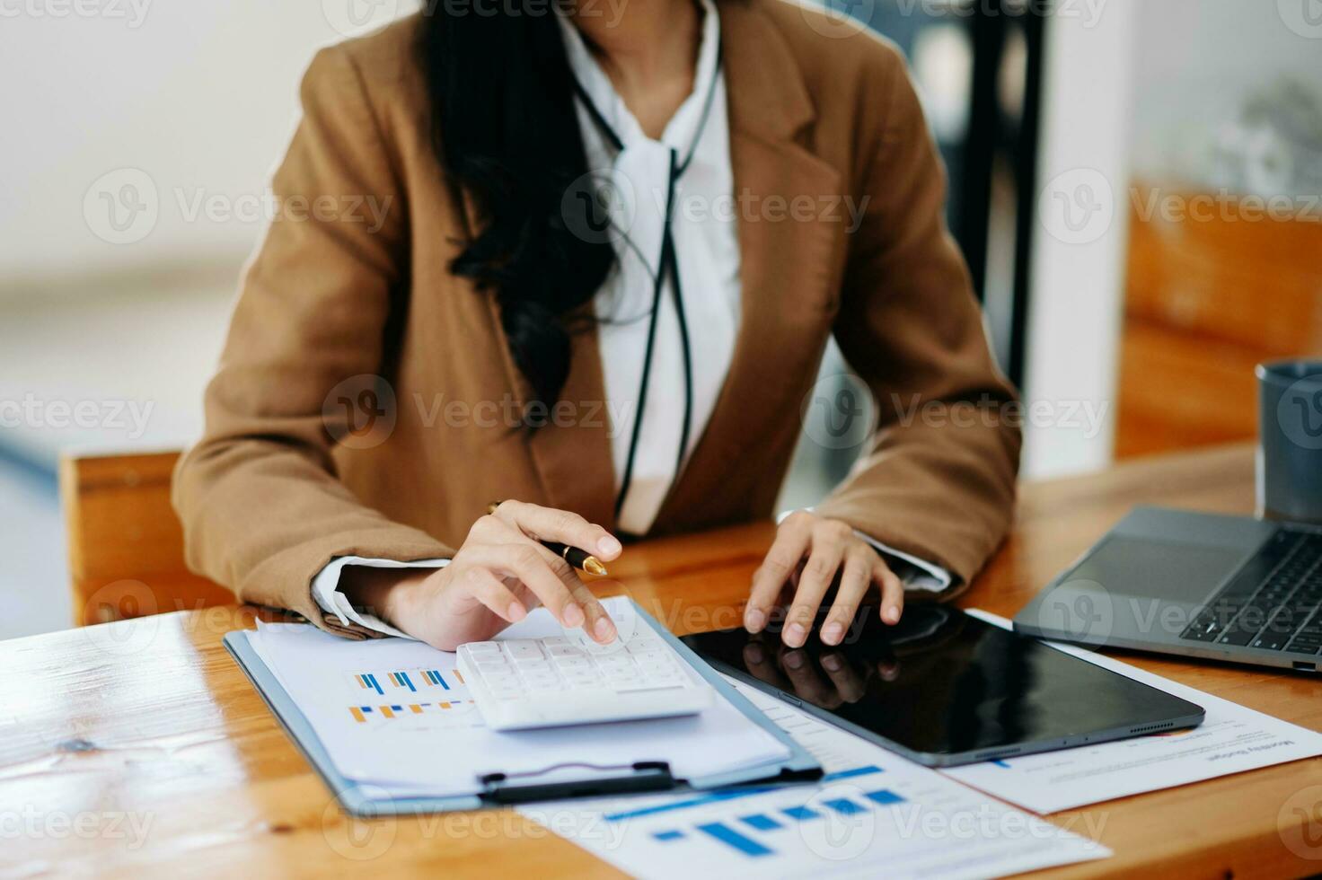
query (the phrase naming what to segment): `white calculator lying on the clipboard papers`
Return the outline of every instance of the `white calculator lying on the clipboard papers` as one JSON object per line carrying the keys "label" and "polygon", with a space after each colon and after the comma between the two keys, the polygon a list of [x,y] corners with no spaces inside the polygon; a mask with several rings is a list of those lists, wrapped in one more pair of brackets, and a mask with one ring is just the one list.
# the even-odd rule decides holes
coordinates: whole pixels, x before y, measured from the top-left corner
{"label": "white calculator lying on the clipboard papers", "polygon": [[695,715],[713,688],[640,626],[598,645],[574,634],[459,646],[459,671],[497,731]]}

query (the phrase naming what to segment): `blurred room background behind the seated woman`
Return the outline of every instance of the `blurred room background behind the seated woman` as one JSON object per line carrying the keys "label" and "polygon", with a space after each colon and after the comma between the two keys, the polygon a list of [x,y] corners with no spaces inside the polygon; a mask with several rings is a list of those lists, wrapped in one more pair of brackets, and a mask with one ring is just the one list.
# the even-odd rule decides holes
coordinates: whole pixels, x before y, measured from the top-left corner
{"label": "blurred room background behind the seated woman", "polygon": [[[1252,436],[1253,361],[1319,349],[1317,0],[832,3],[915,67],[993,345],[1047,407],[1026,474]],[[313,52],[414,8],[0,0],[0,638],[70,620],[59,451],[197,435]],[[857,451],[804,443],[785,505]]]}

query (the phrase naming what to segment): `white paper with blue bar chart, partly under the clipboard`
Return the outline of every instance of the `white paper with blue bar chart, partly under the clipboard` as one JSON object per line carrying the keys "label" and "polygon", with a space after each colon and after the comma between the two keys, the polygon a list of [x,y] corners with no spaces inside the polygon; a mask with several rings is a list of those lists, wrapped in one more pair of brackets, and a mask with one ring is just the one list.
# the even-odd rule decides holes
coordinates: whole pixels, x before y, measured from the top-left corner
{"label": "white paper with blue bar chart, partly under the clipboard", "polygon": [[639,877],[989,877],[1110,855],[1081,836],[1085,827],[1058,827],[735,687],[813,753],[828,773],[821,784],[558,801],[520,813]]}

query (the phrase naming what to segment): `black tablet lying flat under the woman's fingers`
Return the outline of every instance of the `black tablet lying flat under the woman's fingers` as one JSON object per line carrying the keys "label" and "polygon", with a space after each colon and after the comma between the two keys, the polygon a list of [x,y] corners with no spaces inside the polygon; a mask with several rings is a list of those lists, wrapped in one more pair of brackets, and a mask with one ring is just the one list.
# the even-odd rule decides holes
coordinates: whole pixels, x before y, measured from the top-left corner
{"label": "black tablet lying flat under the woman's fingers", "polygon": [[683,641],[719,671],[928,766],[1203,721],[1187,700],[944,605],[910,605],[895,626],[863,608],[839,646],[814,629],[785,647],[779,625]]}

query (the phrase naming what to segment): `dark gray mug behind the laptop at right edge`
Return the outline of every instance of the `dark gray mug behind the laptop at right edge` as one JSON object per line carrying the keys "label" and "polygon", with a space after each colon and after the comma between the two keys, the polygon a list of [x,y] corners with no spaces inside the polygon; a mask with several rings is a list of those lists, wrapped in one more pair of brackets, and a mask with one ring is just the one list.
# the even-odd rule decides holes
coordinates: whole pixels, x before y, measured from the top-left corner
{"label": "dark gray mug behind the laptop at right edge", "polygon": [[1260,363],[1257,388],[1259,510],[1322,522],[1322,361]]}

